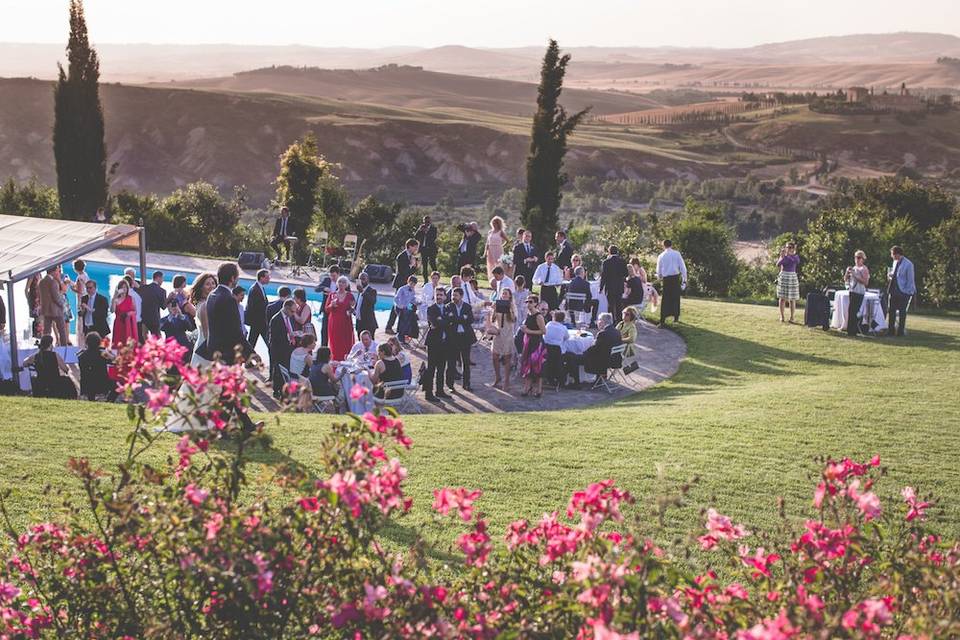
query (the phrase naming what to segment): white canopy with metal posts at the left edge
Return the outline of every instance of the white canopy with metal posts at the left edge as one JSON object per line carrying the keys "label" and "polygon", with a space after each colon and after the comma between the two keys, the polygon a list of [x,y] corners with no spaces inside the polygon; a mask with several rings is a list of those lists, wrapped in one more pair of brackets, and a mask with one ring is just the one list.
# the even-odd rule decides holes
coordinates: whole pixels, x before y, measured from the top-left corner
{"label": "white canopy with metal posts at the left edge", "polygon": [[[140,278],[147,271],[146,237],[142,226],[98,224],[75,220],[0,215],[0,284],[6,285],[11,359],[16,368],[16,296],[13,285],[97,249],[136,246],[140,249]],[[19,380],[14,371],[14,380]]]}

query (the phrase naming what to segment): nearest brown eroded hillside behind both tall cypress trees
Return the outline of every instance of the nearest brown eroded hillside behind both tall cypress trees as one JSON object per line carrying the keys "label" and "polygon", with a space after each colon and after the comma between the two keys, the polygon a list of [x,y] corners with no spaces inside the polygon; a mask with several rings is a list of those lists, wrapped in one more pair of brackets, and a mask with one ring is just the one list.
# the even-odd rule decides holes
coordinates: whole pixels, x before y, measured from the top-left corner
{"label": "nearest brown eroded hillside behind both tall cypress trees", "polygon": [[[51,84],[0,79],[0,179],[55,182]],[[101,87],[113,189],[168,193],[195,180],[224,190],[244,184],[254,203],[273,195],[281,152],[313,131],[355,195],[383,186],[390,197],[476,201],[519,186],[529,117],[451,109],[416,111],[255,92]],[[571,174],[623,178],[740,175],[719,157],[620,128],[586,126],[571,141]],[[694,141],[693,146],[699,144]]]}

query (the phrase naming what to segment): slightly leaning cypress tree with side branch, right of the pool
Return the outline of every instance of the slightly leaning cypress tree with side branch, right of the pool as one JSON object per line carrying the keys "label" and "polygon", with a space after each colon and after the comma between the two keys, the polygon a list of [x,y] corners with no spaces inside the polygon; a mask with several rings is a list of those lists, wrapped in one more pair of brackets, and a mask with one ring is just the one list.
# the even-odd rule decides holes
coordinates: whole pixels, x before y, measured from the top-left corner
{"label": "slightly leaning cypress tree with side branch, right of the pool", "polygon": [[563,173],[563,157],[567,153],[567,137],[580,124],[589,107],[568,116],[560,106],[563,76],[570,55],[560,55],[556,40],[550,40],[540,67],[537,90],[537,112],[533,116],[530,152],[527,154],[527,191],[523,202],[523,225],[533,231],[542,246],[553,241],[559,225],[560,189],[567,181]]}

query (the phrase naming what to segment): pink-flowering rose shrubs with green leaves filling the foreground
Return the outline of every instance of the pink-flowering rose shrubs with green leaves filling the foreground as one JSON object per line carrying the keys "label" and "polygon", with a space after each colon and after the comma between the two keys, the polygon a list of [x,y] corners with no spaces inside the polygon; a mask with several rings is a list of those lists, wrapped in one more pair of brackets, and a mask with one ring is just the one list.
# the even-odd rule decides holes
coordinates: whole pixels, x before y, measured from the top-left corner
{"label": "pink-flowering rose shrubs with green leaves filling the foreground", "polygon": [[[827,462],[810,517],[786,537],[707,510],[696,546],[712,568],[701,572],[626,522],[634,497],[612,480],[505,532],[490,530],[480,490],[438,488],[433,509],[456,529],[464,563],[440,578],[423,544],[391,554],[379,543],[411,508],[396,457],[411,440],[395,415],[333,425],[317,476],[287,469],[278,497],[241,500],[246,452],[266,437],[238,419],[242,368],[201,373],[158,341],[122,357],[121,385],[149,392],[131,405],[118,470],[71,460],[86,505],[63,522],[14,531],[3,509],[4,640],[960,635],[960,547],[926,529],[934,505],[915,489],[881,503],[876,458]],[[172,374],[187,392],[172,391]],[[193,400],[210,389],[212,403]],[[196,411],[208,430],[155,429]],[[216,453],[217,439],[235,446]],[[173,445],[168,462],[142,462],[158,445]]]}

